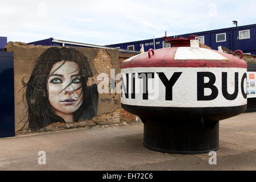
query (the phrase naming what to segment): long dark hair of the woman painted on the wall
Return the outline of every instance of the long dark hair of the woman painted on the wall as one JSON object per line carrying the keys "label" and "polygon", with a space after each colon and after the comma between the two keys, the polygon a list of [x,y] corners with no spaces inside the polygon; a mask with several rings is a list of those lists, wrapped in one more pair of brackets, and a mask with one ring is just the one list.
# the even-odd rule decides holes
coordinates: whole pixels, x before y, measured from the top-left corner
{"label": "long dark hair of the woman painted on the wall", "polygon": [[49,72],[55,63],[63,60],[64,63],[65,61],[73,61],[77,63],[80,69],[84,98],[82,105],[73,114],[74,121],[79,121],[79,119],[89,119],[97,115],[97,85],[86,85],[88,77],[92,77],[93,74],[85,55],[75,48],[51,47],[39,56],[28,82],[24,82],[24,78],[22,80],[24,88],[23,102],[27,105],[25,116],[27,120],[25,121],[24,126],[28,124],[28,127],[32,131],[46,127],[54,122],[65,122],[63,118],[53,114],[48,97],[46,97],[48,96],[47,80]]}

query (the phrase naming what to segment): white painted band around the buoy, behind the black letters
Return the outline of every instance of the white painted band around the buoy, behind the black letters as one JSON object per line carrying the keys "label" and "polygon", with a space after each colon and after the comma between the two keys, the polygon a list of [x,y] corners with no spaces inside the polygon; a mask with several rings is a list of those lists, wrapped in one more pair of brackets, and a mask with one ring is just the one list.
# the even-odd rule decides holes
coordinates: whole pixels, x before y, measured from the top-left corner
{"label": "white painted band around the buoy, behind the black letters", "polygon": [[[121,103],[137,106],[159,106],[159,107],[226,107],[246,105],[247,100],[242,95],[241,80],[246,68],[123,68],[121,69],[123,82],[126,84],[126,73],[129,73],[129,98],[125,97],[125,88]],[[148,78],[148,100],[143,100],[142,78],[138,73],[154,72],[155,78]],[[172,87],[172,100],[166,101],[166,87],[156,72],[163,72],[170,80],[174,72],[182,72]],[[210,101],[197,101],[197,72],[211,72],[216,77],[213,84],[218,89],[218,96]],[[238,72],[238,95],[234,100],[227,100],[222,94],[222,72],[227,72],[227,90],[229,94],[234,93],[234,75]],[[131,98],[131,73],[135,73],[135,99]],[[204,77],[204,82],[209,81]],[[154,87],[155,85],[155,87]],[[158,85],[158,86],[157,86]],[[246,93],[246,79],[243,82]],[[212,90],[204,88],[204,95],[209,96]]]}

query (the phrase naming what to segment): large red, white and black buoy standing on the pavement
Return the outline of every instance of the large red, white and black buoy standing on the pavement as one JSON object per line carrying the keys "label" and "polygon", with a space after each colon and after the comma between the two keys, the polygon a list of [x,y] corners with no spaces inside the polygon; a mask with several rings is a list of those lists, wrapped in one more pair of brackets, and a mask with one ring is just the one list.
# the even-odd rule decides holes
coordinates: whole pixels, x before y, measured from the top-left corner
{"label": "large red, white and black buoy standing on the pavement", "polygon": [[150,49],[121,65],[123,109],[144,123],[144,145],[192,154],[218,149],[218,121],[246,110],[247,64],[190,47]]}

